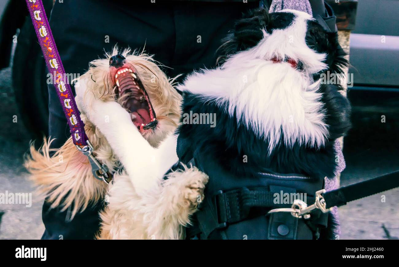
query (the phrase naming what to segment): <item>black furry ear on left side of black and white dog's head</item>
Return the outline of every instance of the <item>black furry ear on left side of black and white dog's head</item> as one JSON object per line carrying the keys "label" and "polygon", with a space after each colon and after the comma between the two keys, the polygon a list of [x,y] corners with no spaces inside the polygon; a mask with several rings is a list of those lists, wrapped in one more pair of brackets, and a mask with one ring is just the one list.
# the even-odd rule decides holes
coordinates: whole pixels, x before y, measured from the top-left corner
{"label": "black furry ear on left side of black and white dog's head", "polygon": [[222,56],[228,57],[239,51],[254,47],[262,40],[262,30],[265,29],[268,23],[269,13],[267,10],[249,11],[235,23],[231,33],[222,40],[223,44],[219,48],[219,52]]}

